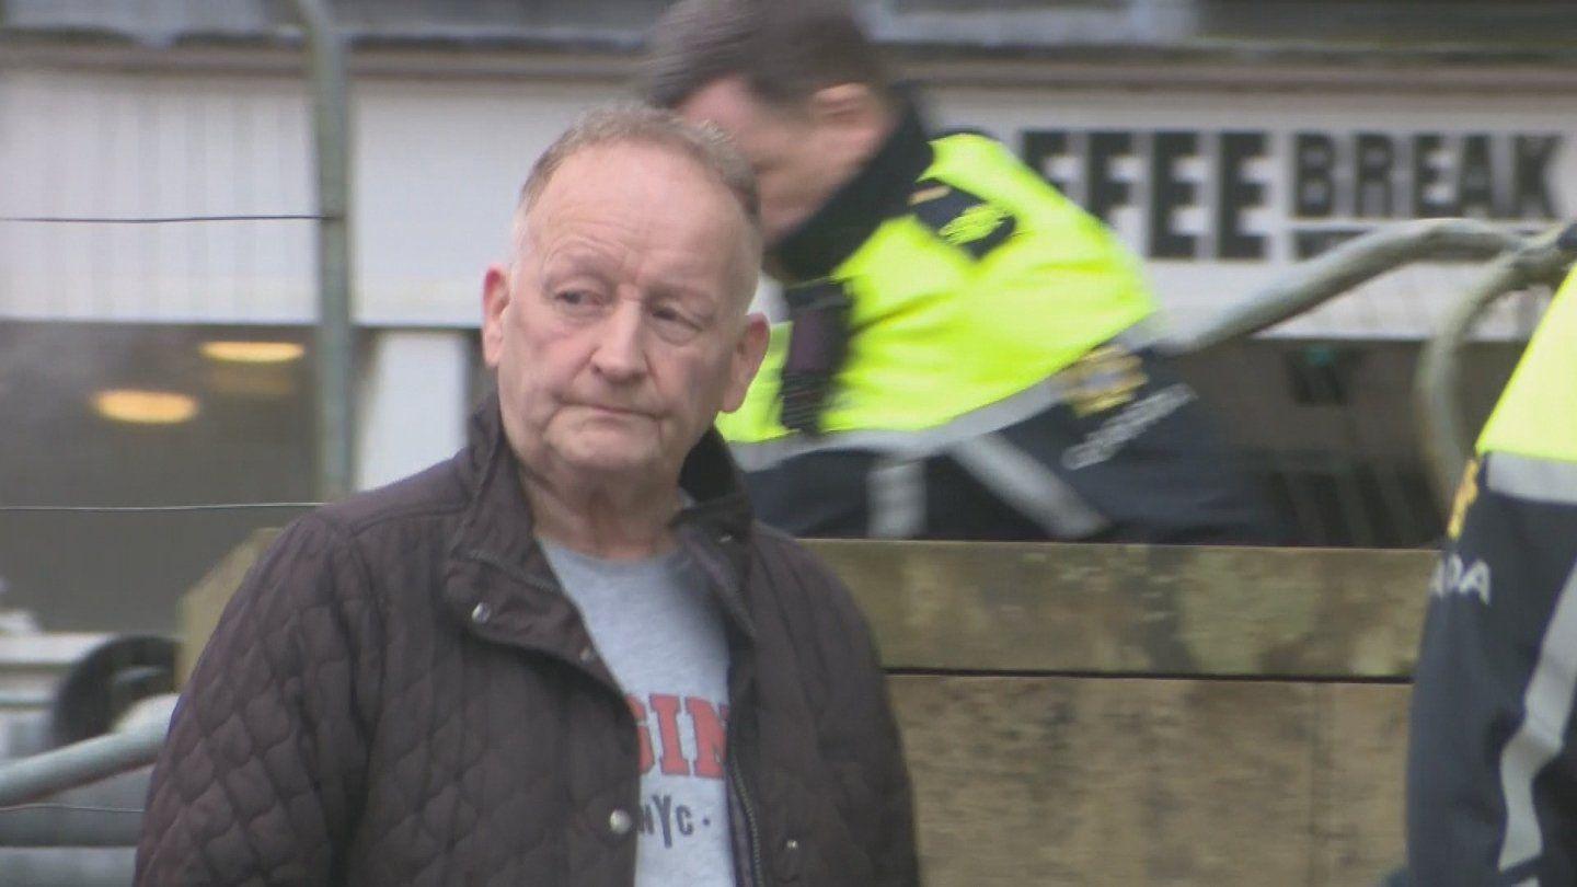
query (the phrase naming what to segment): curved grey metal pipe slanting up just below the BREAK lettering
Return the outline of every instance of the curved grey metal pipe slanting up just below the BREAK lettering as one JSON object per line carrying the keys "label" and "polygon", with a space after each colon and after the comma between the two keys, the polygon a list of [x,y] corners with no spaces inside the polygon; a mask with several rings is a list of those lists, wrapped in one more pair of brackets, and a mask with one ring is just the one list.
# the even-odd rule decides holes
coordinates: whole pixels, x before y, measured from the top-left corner
{"label": "curved grey metal pipe slanting up just below the BREAK lettering", "polygon": [[1520,235],[1476,219],[1421,219],[1374,230],[1303,262],[1293,271],[1236,306],[1210,327],[1164,347],[1192,354],[1252,336],[1329,301],[1392,268],[1443,256],[1489,259],[1523,243]]}

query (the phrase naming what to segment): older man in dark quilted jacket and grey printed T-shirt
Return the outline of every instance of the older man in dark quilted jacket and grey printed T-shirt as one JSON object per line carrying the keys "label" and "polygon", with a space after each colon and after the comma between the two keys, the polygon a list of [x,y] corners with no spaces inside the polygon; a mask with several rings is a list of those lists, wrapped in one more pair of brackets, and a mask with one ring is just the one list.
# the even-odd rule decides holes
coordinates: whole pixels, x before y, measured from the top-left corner
{"label": "older man in dark quilted jacket and grey printed T-shirt", "polygon": [[711,429],[766,330],[749,167],[598,112],[489,268],[467,450],[284,532],[155,770],[139,884],[907,885],[847,590]]}

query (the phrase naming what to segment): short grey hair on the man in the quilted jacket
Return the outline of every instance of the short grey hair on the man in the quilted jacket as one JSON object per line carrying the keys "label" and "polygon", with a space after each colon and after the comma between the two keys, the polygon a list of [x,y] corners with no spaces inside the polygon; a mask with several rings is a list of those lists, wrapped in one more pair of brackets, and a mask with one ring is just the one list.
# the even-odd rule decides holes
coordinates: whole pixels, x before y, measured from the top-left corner
{"label": "short grey hair on the man in the quilted jacket", "polygon": [[762,200],[755,188],[755,172],[721,129],[689,123],[672,110],[639,104],[599,107],[582,115],[565,129],[531,164],[520,186],[519,215],[524,216],[542,196],[549,180],[571,156],[604,145],[651,145],[692,159],[740,202],[740,210],[757,240],[762,235]]}

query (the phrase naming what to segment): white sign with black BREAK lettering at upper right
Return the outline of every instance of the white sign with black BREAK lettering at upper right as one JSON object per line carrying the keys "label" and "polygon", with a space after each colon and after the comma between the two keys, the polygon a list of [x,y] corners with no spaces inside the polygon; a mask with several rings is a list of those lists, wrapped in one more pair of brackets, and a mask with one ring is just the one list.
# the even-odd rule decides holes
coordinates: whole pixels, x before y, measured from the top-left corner
{"label": "white sign with black BREAK lettering at upper right", "polygon": [[[1470,216],[1531,234],[1577,210],[1569,99],[941,90],[935,110],[1003,139],[1113,226],[1184,328],[1388,223]],[[1481,270],[1411,267],[1277,333],[1427,335]],[[1490,331],[1525,330],[1530,309],[1509,300]]]}

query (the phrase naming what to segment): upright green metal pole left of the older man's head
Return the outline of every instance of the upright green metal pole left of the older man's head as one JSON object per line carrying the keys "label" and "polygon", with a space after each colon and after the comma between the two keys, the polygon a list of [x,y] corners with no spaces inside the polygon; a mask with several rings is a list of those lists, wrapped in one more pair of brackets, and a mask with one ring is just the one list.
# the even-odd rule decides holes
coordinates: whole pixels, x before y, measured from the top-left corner
{"label": "upright green metal pole left of the older man's head", "polygon": [[306,28],[317,145],[317,497],[350,492],[353,365],[350,320],[350,99],[344,39],[322,0],[295,0]]}

